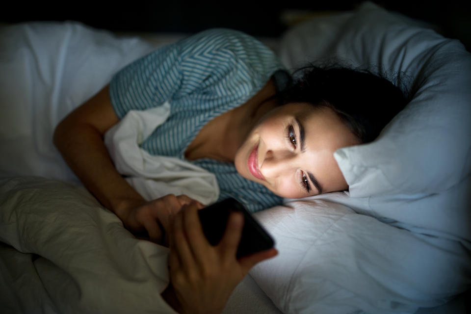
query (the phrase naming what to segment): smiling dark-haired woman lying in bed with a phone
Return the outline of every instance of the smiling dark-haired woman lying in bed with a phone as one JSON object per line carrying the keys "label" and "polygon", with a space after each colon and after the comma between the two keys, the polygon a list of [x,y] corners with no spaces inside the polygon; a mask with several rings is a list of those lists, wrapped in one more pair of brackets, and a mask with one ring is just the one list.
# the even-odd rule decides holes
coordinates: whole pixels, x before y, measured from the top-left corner
{"label": "smiling dark-haired woman lying in bed with a phone", "polygon": [[[272,249],[235,259],[241,217],[211,247],[184,195],[146,202],[116,171],[104,133],[131,109],[169,101],[171,113],[142,143],[216,175],[221,196],[255,211],[348,188],[334,152],[373,140],[405,100],[389,81],[312,67],[299,82],[254,38],[211,29],[163,47],[116,74],[56,128],[54,143],[84,185],[133,233],[160,242],[169,231],[171,284],[162,293],[181,313],[217,313],[235,285]],[[199,309],[199,310],[198,310]]]}

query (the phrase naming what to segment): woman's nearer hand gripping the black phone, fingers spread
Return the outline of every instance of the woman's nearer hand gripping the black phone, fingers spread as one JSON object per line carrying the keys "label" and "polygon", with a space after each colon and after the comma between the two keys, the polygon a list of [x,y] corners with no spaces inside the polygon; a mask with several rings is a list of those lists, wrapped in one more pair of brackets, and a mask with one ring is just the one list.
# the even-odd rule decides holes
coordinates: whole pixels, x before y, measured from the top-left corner
{"label": "woman's nearer hand gripping the black phone, fingers spread", "polygon": [[274,257],[275,249],[235,258],[243,215],[232,212],[225,234],[211,246],[203,234],[198,205],[183,206],[170,222],[170,284],[164,299],[179,313],[220,313],[250,268]]}

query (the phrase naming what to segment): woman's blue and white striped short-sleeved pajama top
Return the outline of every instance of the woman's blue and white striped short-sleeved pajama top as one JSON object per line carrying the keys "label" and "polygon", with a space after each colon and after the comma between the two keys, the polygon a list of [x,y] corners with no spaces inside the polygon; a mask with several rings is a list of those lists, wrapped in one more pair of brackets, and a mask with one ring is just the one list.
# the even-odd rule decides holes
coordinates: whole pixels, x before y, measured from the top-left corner
{"label": "woman's blue and white striped short-sleeved pajama top", "polygon": [[[255,38],[230,29],[210,29],[134,61],[113,76],[111,104],[120,119],[129,110],[170,102],[168,119],[144,140],[152,155],[185,160],[186,148],[214,117],[242,105],[273,76],[286,72],[274,52]],[[233,163],[209,158],[187,160],[216,176],[219,200],[234,197],[249,211],[282,202],[260,183],[240,176]]]}

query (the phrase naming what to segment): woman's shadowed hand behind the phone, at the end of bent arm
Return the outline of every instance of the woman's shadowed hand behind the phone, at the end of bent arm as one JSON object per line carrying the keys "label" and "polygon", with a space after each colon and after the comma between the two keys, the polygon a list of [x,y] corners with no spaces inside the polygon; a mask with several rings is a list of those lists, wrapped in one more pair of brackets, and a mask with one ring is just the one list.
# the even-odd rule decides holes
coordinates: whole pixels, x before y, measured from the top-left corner
{"label": "woman's shadowed hand behind the phone, at the end of bent arm", "polygon": [[[139,234],[147,231],[151,241],[164,244],[162,239],[169,229],[169,216],[177,213],[183,205],[190,204],[192,201],[196,202],[186,195],[168,194],[153,201],[143,201],[137,206],[134,204],[121,211],[120,218],[126,229],[132,233]],[[196,204],[199,208],[203,208],[201,203]]]}

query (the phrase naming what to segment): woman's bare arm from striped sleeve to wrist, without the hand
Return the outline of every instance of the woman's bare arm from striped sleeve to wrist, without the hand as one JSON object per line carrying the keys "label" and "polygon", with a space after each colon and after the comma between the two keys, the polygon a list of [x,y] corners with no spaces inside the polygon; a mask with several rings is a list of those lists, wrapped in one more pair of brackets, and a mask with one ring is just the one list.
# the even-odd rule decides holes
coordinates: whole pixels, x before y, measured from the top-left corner
{"label": "woman's bare arm from striped sleeve to wrist, without the hand", "polygon": [[119,175],[106,150],[103,136],[118,122],[106,85],[59,123],[54,144],[82,183],[121,218],[144,199]]}

